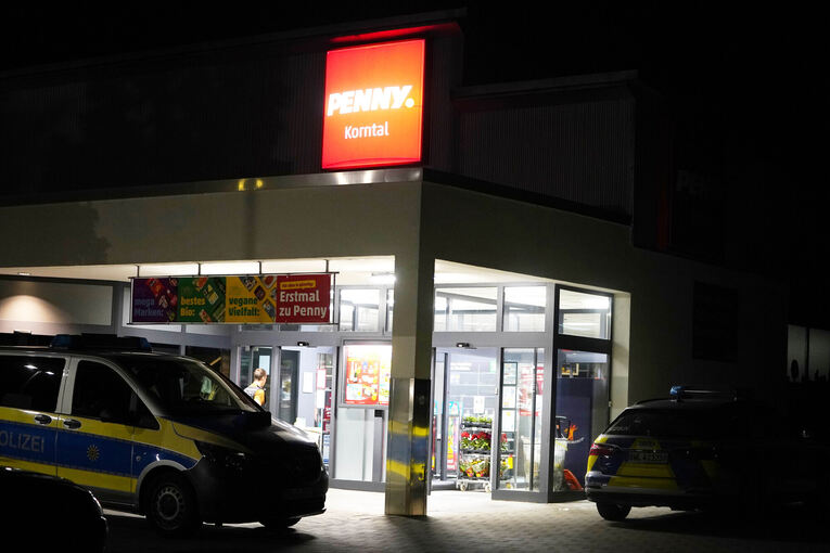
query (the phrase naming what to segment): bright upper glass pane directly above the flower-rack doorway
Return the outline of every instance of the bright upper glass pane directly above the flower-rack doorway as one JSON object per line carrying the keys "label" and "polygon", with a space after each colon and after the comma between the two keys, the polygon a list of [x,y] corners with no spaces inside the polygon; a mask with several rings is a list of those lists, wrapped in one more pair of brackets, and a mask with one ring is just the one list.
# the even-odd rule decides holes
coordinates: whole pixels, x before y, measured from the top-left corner
{"label": "bright upper glass pane directly above the flower-rack doorway", "polygon": [[437,288],[435,332],[495,332],[498,288]]}

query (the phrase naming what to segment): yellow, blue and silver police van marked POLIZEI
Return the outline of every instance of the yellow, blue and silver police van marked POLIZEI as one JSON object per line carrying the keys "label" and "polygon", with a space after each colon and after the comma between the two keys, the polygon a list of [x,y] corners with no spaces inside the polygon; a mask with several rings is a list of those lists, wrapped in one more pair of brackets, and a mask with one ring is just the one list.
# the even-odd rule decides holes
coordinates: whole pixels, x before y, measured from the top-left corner
{"label": "yellow, blue and silver police van marked POLIZEI", "polygon": [[316,442],[200,361],[143,338],[0,348],[0,465],[72,480],[163,535],[324,511]]}

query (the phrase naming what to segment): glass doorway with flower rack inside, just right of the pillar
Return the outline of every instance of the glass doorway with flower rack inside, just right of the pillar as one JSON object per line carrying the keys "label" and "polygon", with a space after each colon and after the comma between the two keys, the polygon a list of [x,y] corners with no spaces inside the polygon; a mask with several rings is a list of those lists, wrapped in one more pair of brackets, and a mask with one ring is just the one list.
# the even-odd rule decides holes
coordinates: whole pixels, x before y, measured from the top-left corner
{"label": "glass doorway with flower rack inside, just right of the pillar", "polygon": [[489,490],[498,365],[497,348],[436,350],[434,484]]}

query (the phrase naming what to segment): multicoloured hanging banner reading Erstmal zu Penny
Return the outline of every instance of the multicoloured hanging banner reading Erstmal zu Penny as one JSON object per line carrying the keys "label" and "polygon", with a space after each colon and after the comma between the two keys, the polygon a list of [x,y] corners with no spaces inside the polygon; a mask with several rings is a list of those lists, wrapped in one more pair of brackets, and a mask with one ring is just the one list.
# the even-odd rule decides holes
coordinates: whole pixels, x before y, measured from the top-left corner
{"label": "multicoloured hanging banner reading Erstmal zu Penny", "polygon": [[132,279],[130,322],[330,324],[332,273]]}

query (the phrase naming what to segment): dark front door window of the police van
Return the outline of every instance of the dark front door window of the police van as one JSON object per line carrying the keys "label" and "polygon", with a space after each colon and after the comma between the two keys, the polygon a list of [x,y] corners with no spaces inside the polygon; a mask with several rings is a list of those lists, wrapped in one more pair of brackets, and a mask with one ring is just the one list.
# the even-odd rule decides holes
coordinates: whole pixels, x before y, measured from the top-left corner
{"label": "dark front door window of the police van", "polygon": [[129,424],[132,388],[105,364],[80,361],[75,374],[72,414]]}

